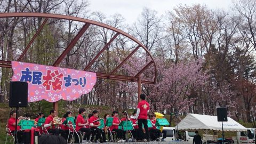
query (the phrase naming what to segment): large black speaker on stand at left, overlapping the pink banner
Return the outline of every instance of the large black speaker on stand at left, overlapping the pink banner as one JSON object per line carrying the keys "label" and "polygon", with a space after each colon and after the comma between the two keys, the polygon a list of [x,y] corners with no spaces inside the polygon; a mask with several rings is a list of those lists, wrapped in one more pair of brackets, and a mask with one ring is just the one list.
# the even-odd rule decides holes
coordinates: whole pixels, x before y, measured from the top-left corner
{"label": "large black speaker on stand at left, overlapping the pink banner", "polygon": [[28,83],[10,82],[9,107],[28,106]]}

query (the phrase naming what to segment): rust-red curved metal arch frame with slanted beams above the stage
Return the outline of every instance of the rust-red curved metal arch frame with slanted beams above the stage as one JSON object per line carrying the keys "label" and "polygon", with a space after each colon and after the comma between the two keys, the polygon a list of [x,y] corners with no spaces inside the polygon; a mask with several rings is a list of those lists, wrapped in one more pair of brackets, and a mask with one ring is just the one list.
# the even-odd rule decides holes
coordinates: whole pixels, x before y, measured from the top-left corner
{"label": "rust-red curved metal arch frame with slanted beams above the stage", "polygon": [[[95,26],[99,26],[99,27],[103,27],[103,28],[113,30],[113,31],[116,32],[116,34],[114,35],[113,38],[110,39],[110,41],[105,46],[103,46],[103,48],[100,50],[100,52],[88,63],[88,65],[84,68],[84,70],[87,70],[92,66],[93,62],[99,58],[99,56],[107,49],[107,47],[111,44],[111,42],[114,41],[114,39],[118,35],[123,35],[127,38],[130,38],[133,42],[137,43],[138,46],[129,55],[127,55],[127,57],[121,63],[119,63],[119,65],[114,70],[112,70],[110,74],[97,73],[96,72],[97,77],[98,78],[106,78],[106,79],[114,79],[114,80],[118,80],[118,81],[137,82],[138,83],[138,94],[141,93],[141,83],[143,83],[143,84],[155,84],[155,82],[156,82],[156,77],[157,77],[156,64],[155,64],[155,61],[154,61],[153,57],[151,56],[150,52],[148,51],[147,47],[144,46],[142,43],[140,43],[136,38],[134,38],[133,36],[131,36],[127,33],[125,33],[122,30],[119,30],[117,28],[108,26],[106,24],[103,24],[103,23],[100,23],[100,22],[97,22],[97,21],[92,21],[92,20],[78,18],[78,17],[71,17],[71,16],[68,16],[68,15],[49,14],[49,13],[0,13],[0,18],[12,18],[12,17],[25,17],[25,18],[29,18],[29,17],[38,18],[38,17],[40,17],[40,18],[44,18],[44,21],[43,21],[42,25],[38,28],[35,35],[30,39],[30,42],[26,46],[25,50],[23,50],[22,54],[20,55],[20,57],[16,61],[21,61],[22,57],[26,54],[30,45],[34,42],[35,38],[40,33],[40,31],[42,30],[42,28],[44,27],[45,23],[47,22],[47,20],[49,18],[73,20],[73,21],[77,21],[77,22],[83,22],[84,25],[79,30],[77,35],[73,38],[73,40],[68,44],[66,49],[61,53],[59,58],[57,60],[55,60],[55,62],[53,63],[53,66],[59,66],[60,62],[65,58],[67,53],[71,49],[73,49],[73,47],[77,43],[78,39],[85,33],[85,31],[90,27],[90,25],[95,25]],[[150,59],[151,59],[151,60],[149,60],[147,65],[145,67],[143,67],[142,69],[140,69],[139,73],[135,76],[115,75],[116,71],[140,48],[144,49],[146,51],[146,53],[149,55]],[[155,72],[154,81],[143,81],[143,80],[141,80],[140,74],[143,73],[143,71],[145,71],[152,64],[154,65],[154,70],[155,70],[154,71]],[[0,60],[0,67],[12,68],[11,61]],[[94,72],[94,71],[92,71],[92,72]],[[58,103],[54,102],[53,107],[55,109],[58,109]]]}

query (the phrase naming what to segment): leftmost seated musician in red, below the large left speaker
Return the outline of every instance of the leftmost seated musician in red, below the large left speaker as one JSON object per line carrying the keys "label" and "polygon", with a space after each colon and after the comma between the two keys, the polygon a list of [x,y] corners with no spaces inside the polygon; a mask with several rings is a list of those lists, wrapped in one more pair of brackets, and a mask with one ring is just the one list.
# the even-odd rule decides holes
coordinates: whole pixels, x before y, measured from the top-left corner
{"label": "leftmost seated musician in red, below the large left speaker", "polygon": [[[19,124],[19,122],[21,121],[21,119],[23,119],[22,116],[20,116],[19,119],[17,119],[17,124]],[[10,131],[15,134],[15,125],[16,125],[16,112],[15,111],[11,111],[10,113],[10,118],[8,119],[8,128],[10,129]],[[18,143],[21,143],[23,141],[22,139],[22,135],[23,135],[23,131],[20,130],[20,126],[17,125],[17,140]],[[15,137],[15,135],[14,135]]]}

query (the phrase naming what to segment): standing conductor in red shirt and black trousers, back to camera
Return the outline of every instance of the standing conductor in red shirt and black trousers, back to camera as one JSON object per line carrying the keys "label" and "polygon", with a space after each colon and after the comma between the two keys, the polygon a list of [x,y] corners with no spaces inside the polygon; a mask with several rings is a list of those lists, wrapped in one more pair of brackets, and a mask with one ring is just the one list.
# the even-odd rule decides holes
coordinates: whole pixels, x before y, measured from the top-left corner
{"label": "standing conductor in red shirt and black trousers, back to camera", "polygon": [[[139,132],[138,132],[138,142],[140,141],[150,141],[149,131],[148,131],[148,112],[149,112],[149,104],[145,100],[146,95],[140,94],[140,102],[137,107],[136,117],[138,118]],[[144,125],[144,129],[146,131],[146,139],[143,138],[142,124]]]}

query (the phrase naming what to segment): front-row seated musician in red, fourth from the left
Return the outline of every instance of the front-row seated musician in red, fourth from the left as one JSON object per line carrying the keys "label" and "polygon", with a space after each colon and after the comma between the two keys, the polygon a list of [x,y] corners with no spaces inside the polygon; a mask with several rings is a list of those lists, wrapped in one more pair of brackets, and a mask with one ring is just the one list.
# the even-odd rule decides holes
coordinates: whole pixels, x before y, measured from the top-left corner
{"label": "front-row seated musician in red, fourth from the left", "polygon": [[[99,129],[98,126],[100,126],[100,122],[93,122],[98,120],[98,115],[99,115],[99,111],[97,110],[93,110],[92,111],[92,116],[89,118],[89,123],[91,126],[91,131],[92,131],[92,141],[94,139],[94,135],[96,135],[95,137],[95,141],[94,142],[99,142],[98,139],[100,138],[100,142],[107,142],[106,141],[106,134],[102,129]],[[102,137],[101,137],[102,135]]]}

